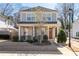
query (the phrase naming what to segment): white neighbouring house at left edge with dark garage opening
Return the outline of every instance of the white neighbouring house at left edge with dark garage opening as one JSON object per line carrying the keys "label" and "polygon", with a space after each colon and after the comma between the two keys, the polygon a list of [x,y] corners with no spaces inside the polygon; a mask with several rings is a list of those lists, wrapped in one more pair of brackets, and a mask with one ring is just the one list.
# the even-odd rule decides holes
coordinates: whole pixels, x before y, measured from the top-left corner
{"label": "white neighbouring house at left edge with dark garage opening", "polygon": [[14,23],[11,21],[11,18],[9,19],[0,14],[0,38],[8,38],[12,32],[16,31],[13,26]]}

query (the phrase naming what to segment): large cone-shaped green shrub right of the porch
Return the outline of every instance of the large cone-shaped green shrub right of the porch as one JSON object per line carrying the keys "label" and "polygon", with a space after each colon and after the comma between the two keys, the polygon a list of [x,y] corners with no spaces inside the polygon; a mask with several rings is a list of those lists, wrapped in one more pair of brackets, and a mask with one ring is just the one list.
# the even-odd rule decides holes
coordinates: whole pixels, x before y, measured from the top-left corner
{"label": "large cone-shaped green shrub right of the porch", "polygon": [[57,42],[58,43],[65,43],[66,41],[67,41],[66,34],[65,34],[64,30],[61,29],[58,33]]}

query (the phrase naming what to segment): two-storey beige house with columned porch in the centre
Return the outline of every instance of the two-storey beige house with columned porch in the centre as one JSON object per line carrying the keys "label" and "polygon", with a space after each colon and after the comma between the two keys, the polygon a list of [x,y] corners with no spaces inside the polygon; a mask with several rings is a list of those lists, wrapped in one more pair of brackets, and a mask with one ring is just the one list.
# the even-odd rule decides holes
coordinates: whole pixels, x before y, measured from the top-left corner
{"label": "two-storey beige house with columned porch in the centre", "polygon": [[17,27],[19,29],[19,40],[25,35],[47,35],[49,39],[54,39],[57,35],[57,11],[45,7],[37,6],[20,10],[20,19]]}

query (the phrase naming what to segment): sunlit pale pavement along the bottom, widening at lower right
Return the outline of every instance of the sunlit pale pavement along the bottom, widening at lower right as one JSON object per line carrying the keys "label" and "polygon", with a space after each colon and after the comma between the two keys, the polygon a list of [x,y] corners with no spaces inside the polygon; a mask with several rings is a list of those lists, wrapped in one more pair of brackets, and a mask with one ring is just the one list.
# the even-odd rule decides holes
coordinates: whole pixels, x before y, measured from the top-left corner
{"label": "sunlit pale pavement along the bottom, widening at lower right", "polygon": [[[14,53],[9,53],[11,51],[0,51],[0,56],[46,56],[46,55],[49,55],[49,56],[75,56],[75,54],[67,49],[66,47],[59,47],[58,50],[62,53],[62,54],[40,54],[39,52],[41,51],[12,51]],[[8,53],[5,53],[5,52],[8,52]],[[39,54],[28,54],[28,53],[39,53]],[[42,51],[44,52],[44,51]],[[53,51],[47,51],[45,53],[50,53],[50,52],[53,52]],[[54,52],[55,53],[55,52]]]}

